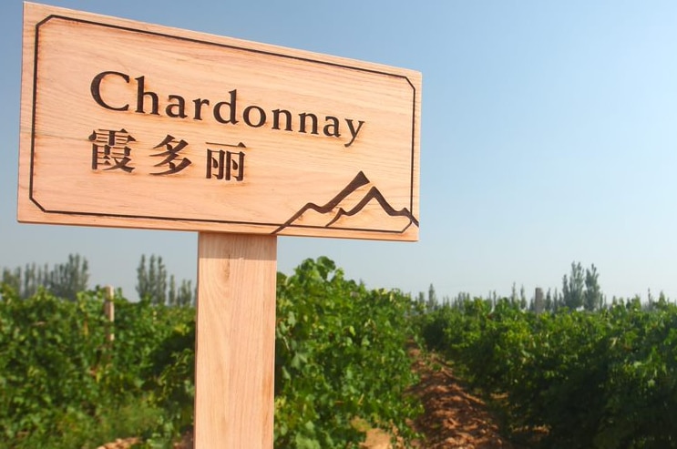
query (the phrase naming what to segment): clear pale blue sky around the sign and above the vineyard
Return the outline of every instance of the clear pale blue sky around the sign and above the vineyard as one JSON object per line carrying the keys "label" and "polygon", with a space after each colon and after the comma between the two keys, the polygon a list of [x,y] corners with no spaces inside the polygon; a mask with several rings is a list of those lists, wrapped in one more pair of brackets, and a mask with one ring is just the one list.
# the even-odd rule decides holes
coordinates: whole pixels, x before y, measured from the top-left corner
{"label": "clear pale blue sky around the sign and above the vineyard", "polygon": [[[58,5],[423,74],[416,243],[280,238],[278,269],[328,256],[368,287],[561,289],[677,299],[677,3],[94,2]],[[22,3],[0,4],[0,267],[79,253],[136,296],[141,254],[194,279],[197,234],[16,222]]]}

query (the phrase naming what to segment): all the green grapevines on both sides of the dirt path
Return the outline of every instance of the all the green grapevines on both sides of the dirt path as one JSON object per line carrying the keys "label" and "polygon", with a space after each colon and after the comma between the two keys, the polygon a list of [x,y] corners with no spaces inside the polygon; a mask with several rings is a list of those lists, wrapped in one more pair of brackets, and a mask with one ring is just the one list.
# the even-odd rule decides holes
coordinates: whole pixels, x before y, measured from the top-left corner
{"label": "all the green grapevines on both sides of the dirt path", "polygon": [[[136,437],[135,447],[171,448],[190,432],[190,301],[118,292],[108,321],[103,290],[67,299],[36,287],[26,297],[17,285],[0,284],[0,447],[94,449]],[[421,364],[438,378],[441,364],[452,367],[489,404],[491,432],[514,447],[677,447],[677,306],[585,309],[426,303],[347,280],[332,260],[304,260],[277,281],[275,447],[358,448],[375,428],[426,447],[413,424],[424,413],[413,393]],[[415,346],[424,354],[413,360]]]}

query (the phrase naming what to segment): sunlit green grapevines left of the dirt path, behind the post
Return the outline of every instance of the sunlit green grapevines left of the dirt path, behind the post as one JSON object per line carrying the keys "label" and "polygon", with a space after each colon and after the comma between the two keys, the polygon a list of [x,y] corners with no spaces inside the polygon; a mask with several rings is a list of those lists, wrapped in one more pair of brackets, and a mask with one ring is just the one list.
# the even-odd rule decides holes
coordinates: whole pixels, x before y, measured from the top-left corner
{"label": "sunlit green grapevines left of the dirt path, behind the post", "polygon": [[[66,301],[2,289],[1,447],[96,448],[138,436],[138,447],[163,448],[190,430],[194,308],[116,297],[111,325],[103,291]],[[370,427],[411,437],[407,420],[421,409],[406,394],[415,383],[409,297],[345,280],[326,258],[280,274],[277,289],[275,446],[358,447]]]}

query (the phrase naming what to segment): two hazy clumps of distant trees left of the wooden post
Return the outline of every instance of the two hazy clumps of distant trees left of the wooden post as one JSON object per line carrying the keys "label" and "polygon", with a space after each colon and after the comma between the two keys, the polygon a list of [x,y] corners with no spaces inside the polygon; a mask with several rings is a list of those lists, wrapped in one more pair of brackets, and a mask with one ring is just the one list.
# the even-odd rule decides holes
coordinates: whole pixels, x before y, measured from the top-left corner
{"label": "two hazy clumps of distant trees left of the wooden post", "polygon": [[[26,264],[14,269],[4,268],[0,279],[19,298],[34,296],[43,289],[58,298],[75,301],[77,294],[89,289],[89,263],[79,254],[69,254],[68,260],[50,267],[48,264]],[[138,298],[152,304],[169,306],[194,305],[197,292],[190,280],[177,281],[169,274],[162,257],[141,255],[137,268]]]}

